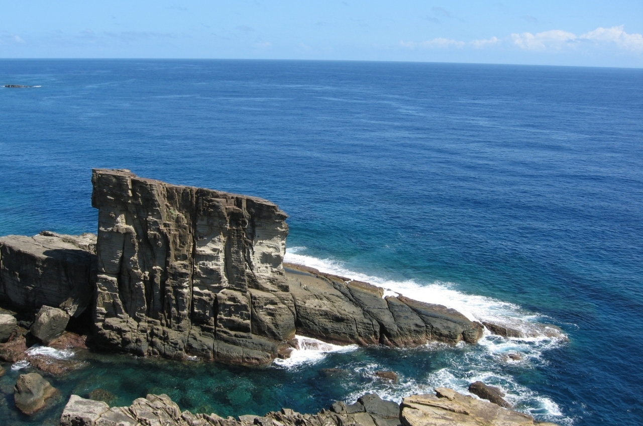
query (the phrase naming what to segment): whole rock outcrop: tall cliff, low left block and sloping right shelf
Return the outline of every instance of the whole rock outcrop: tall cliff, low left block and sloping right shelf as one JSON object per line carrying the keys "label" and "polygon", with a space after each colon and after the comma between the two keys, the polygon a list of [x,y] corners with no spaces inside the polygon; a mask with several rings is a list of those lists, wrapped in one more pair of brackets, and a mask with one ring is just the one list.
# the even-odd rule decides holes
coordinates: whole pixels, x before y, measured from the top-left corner
{"label": "whole rock outcrop: tall cliff, low left block and sloping right shelf", "polygon": [[[287,215],[264,199],[125,170],[95,169],[92,182],[97,239],[0,238],[0,302],[30,311],[31,322],[42,306],[79,317],[91,305],[99,347],[242,364],[289,357],[295,333],[386,346],[482,336],[482,324],[444,306],[383,298],[382,288],[313,268],[284,268]],[[48,335],[37,336],[42,342],[60,335],[65,318],[56,318]],[[38,321],[18,325],[37,335]],[[7,358],[24,346],[20,338],[0,348],[11,349]]]}

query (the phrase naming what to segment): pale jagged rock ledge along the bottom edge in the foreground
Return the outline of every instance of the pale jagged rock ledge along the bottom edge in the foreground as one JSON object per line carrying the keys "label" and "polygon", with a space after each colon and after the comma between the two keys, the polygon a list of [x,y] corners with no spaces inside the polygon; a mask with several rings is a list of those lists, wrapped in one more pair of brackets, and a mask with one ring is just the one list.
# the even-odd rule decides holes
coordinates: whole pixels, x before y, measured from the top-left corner
{"label": "pale jagged rock ledge along the bottom edge in the foreground", "polygon": [[271,411],[265,416],[244,415],[222,418],[217,414],[192,414],[181,411],[167,395],[147,395],[129,407],[109,407],[102,401],[69,398],[60,426],[555,426],[537,423],[531,416],[498,407],[491,402],[439,387],[435,395],[422,394],[404,398],[401,405],[365,394],[358,402],[336,402],[330,410],[300,414],[291,409]]}

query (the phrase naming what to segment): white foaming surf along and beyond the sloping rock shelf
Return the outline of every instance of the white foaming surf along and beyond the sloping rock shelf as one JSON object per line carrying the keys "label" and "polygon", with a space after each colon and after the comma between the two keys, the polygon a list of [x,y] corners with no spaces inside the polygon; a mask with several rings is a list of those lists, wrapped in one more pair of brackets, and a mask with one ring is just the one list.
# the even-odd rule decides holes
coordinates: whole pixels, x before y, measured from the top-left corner
{"label": "white foaming surf along and beyond the sloping rock shelf", "polygon": [[[456,284],[451,282],[431,282],[420,284],[413,280],[391,281],[355,272],[345,268],[341,261],[318,259],[302,254],[305,247],[293,247],[286,251],[284,261],[315,268],[320,272],[341,275],[357,281],[370,282],[385,289],[384,297],[399,294],[412,297],[417,301],[441,304],[453,308],[469,320],[478,322],[494,322],[511,326],[523,331],[528,337],[502,337],[492,334],[485,328],[484,335],[478,342],[476,350],[466,351],[464,357],[454,358],[447,368],[428,373],[424,380],[413,380],[401,377],[395,384],[365,383],[363,387],[349,395],[347,400],[354,402],[367,392],[379,394],[381,398],[401,402],[402,398],[415,393],[431,393],[435,387],[444,386],[455,389],[462,394],[470,394],[469,384],[480,380],[485,384],[500,387],[506,394],[506,399],[515,409],[528,414],[539,416],[540,420],[556,421],[557,423],[572,424],[573,420],[563,417],[556,402],[547,396],[539,395],[529,388],[518,384],[515,378],[503,370],[503,366],[516,365],[525,368],[534,365],[545,365],[542,358],[544,351],[560,346],[566,341],[562,333],[547,333],[544,326],[539,326],[538,320],[544,319],[536,313],[524,311],[520,306],[491,297],[471,295],[456,290]],[[535,331],[534,331],[535,330]],[[536,332],[538,331],[538,333]],[[541,333],[545,331],[545,333]],[[429,344],[429,349],[440,350],[442,344]],[[303,355],[303,354],[302,354]],[[316,358],[319,357],[319,358]],[[323,354],[309,353],[305,361],[293,362],[293,365],[303,362],[321,360]],[[463,359],[464,358],[464,359]],[[279,360],[285,365],[288,360]],[[361,375],[372,376],[384,366],[369,364],[355,369]],[[476,396],[474,396],[477,398]]]}

